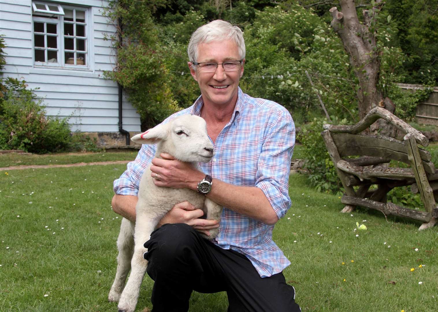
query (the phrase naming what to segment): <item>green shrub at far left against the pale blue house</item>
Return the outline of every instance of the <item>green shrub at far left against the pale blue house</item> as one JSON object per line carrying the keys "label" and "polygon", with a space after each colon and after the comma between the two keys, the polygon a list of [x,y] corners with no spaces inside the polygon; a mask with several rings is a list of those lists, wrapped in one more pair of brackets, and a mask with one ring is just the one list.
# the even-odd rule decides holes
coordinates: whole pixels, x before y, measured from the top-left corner
{"label": "green shrub at far left against the pale blue house", "polygon": [[62,151],[71,142],[67,118],[45,116],[45,106],[25,82],[6,79],[7,92],[0,102],[0,149],[44,153]]}

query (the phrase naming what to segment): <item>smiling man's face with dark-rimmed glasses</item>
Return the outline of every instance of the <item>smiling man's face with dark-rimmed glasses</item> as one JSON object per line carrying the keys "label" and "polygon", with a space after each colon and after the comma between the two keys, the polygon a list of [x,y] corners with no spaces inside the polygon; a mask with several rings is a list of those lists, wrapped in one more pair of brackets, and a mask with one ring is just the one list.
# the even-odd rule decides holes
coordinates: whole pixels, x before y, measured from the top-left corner
{"label": "smiling man's face with dark-rimmed glasses", "polygon": [[[223,63],[231,60],[240,60],[239,49],[233,40],[212,41],[201,43],[198,46],[198,63]],[[189,66],[191,63],[189,62]],[[239,79],[244,73],[244,62],[236,71],[224,71],[218,65],[215,72],[207,73],[198,67],[191,69],[191,74],[198,82],[204,103],[216,106],[235,105],[237,101],[237,87]]]}

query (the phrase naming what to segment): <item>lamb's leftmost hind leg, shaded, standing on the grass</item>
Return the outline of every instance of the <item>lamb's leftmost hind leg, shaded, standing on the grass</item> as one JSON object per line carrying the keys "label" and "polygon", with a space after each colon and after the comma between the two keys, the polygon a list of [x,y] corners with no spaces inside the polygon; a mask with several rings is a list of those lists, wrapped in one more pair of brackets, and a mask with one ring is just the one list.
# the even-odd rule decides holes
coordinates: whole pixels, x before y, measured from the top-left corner
{"label": "lamb's leftmost hind leg, shaded, standing on the grass", "polygon": [[113,286],[109,291],[108,301],[119,301],[125,287],[126,277],[131,269],[131,259],[134,252],[134,223],[123,218],[120,225],[119,238],[117,239],[117,273]]}

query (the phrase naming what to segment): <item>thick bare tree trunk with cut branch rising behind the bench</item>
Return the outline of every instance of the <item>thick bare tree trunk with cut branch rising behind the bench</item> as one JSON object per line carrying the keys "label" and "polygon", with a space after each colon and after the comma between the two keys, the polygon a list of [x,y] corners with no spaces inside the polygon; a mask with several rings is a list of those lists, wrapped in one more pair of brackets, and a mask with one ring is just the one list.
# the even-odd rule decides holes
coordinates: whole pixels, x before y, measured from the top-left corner
{"label": "thick bare tree trunk with cut branch rising behind the bench", "polygon": [[[376,46],[374,33],[370,32],[375,10],[380,8],[381,0],[376,1],[379,7],[363,10],[364,24],[359,22],[354,0],[339,0],[342,12],[336,7],[330,9],[331,26],[341,37],[344,49],[350,55],[350,64],[359,80],[357,99],[359,101],[359,117],[363,119],[371,108],[384,104],[381,92],[376,88],[380,72],[380,56]],[[381,104],[381,107],[383,107]]]}

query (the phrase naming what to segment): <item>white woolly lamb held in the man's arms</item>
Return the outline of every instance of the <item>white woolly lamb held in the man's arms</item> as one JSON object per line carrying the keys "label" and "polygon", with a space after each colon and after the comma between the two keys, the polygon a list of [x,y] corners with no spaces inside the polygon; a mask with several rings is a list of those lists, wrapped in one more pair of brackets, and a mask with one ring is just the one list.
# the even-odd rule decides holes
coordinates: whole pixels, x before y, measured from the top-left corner
{"label": "white woolly lamb held in the man's arms", "polygon": [[[132,141],[142,144],[157,143],[155,155],[166,152],[176,159],[190,162],[198,167],[198,162],[207,163],[213,157],[213,144],[207,135],[207,126],[201,117],[183,115],[167,124],[135,135]],[[150,166],[143,173],[138,190],[136,209],[138,222],[122,219],[120,234],[117,239],[117,273],[108,300],[119,301],[119,311],[132,312],[137,305],[140,285],[145,276],[147,260],[143,254],[147,249],[143,244],[149,240],[152,231],[161,218],[179,202],[188,201],[195,208],[202,209],[207,219],[220,220],[222,206],[212,202],[201,193],[190,189],[174,189],[155,186],[151,177]],[[209,230],[215,238],[218,229]],[[133,237],[134,235],[134,237]],[[129,270],[131,275],[125,286]]]}

